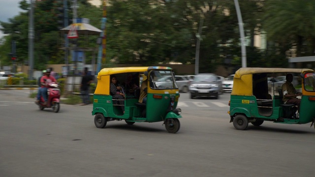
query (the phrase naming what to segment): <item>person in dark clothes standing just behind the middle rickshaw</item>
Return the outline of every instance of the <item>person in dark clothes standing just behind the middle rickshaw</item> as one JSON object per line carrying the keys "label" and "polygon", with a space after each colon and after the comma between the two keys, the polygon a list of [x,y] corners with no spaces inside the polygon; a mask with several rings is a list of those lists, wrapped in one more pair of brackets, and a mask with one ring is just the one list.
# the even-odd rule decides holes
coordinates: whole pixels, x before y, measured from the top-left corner
{"label": "person in dark clothes standing just behind the middle rickshaw", "polygon": [[90,84],[93,82],[93,76],[88,75],[88,68],[84,68],[83,77],[81,81],[81,98],[82,98],[82,106],[90,104]]}

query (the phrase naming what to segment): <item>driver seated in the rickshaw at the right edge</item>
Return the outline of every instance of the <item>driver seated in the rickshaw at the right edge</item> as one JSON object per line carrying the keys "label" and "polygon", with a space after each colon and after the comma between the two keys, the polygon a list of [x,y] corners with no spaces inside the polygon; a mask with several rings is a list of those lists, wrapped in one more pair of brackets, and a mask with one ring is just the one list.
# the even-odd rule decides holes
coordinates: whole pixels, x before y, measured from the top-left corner
{"label": "driver seated in the rickshaw at the right edge", "polygon": [[283,101],[285,104],[296,104],[297,110],[300,110],[300,103],[301,99],[296,98],[297,96],[302,95],[300,92],[296,92],[293,84],[291,83],[293,81],[293,75],[292,74],[286,74],[286,82],[282,85],[281,89],[283,91]]}

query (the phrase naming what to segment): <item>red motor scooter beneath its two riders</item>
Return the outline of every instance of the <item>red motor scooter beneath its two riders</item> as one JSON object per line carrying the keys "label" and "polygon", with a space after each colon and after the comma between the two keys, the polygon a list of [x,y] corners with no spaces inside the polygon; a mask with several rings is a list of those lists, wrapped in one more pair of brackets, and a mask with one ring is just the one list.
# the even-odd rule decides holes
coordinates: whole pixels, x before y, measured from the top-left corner
{"label": "red motor scooter beneath its two riders", "polygon": [[40,110],[43,110],[44,108],[53,108],[55,113],[58,113],[60,109],[60,89],[58,89],[58,84],[52,82],[47,83],[48,89],[47,89],[47,104],[45,105],[44,98],[40,96],[39,103],[36,103],[39,106]]}

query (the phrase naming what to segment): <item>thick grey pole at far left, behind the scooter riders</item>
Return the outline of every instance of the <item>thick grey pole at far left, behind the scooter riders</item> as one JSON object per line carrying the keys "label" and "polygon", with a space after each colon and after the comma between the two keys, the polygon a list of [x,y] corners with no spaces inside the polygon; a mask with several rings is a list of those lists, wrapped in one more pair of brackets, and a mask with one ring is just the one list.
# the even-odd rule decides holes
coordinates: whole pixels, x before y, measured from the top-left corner
{"label": "thick grey pole at far left, behind the scooter riders", "polygon": [[33,61],[34,61],[34,0],[31,0],[31,9],[29,14],[29,80],[33,80]]}

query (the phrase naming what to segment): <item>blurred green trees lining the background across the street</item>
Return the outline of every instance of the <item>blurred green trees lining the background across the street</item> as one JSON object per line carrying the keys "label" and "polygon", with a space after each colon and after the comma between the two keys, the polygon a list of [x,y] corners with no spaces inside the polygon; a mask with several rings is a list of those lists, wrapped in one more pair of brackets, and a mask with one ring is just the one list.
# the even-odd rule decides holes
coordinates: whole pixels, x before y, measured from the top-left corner
{"label": "blurred green trees lining the background across the street", "polygon": [[[58,29],[58,13],[63,0],[36,1],[34,8],[35,69],[44,64],[64,63],[64,36]],[[67,1],[68,18],[72,19]],[[287,57],[314,55],[315,2],[309,0],[239,0],[249,67],[284,67]],[[103,7],[78,0],[78,17],[90,19],[100,29]],[[26,10],[0,22],[1,65],[11,64],[8,53],[16,41],[18,63],[28,61],[28,21]],[[170,61],[194,63],[196,41],[200,39],[199,71],[211,72],[218,65],[241,66],[241,47],[235,4],[231,0],[107,0],[106,62],[152,65]],[[267,36],[267,47],[254,47],[255,35]],[[97,48],[97,36],[80,45]],[[91,62],[93,53],[86,53]],[[68,59],[71,62],[70,59]],[[231,62],[229,62],[231,61]]]}

